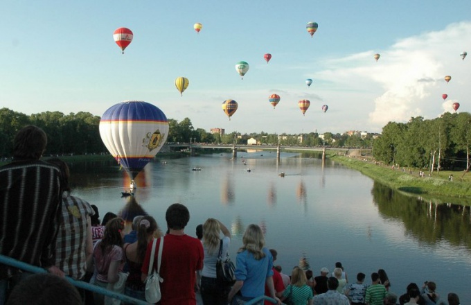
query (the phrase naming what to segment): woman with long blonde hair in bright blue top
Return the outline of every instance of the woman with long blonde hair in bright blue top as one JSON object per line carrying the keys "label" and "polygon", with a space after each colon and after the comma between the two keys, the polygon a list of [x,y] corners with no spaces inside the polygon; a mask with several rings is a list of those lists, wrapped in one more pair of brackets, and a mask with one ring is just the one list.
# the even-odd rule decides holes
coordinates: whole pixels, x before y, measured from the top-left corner
{"label": "woman with long blonde hair in bright blue top", "polygon": [[242,247],[238,250],[236,283],[229,292],[229,303],[244,304],[250,299],[264,295],[266,283],[269,296],[281,304],[275,295],[272,265],[272,254],[265,247],[262,229],[255,224],[249,225],[242,236]]}

